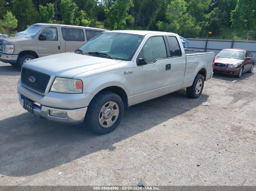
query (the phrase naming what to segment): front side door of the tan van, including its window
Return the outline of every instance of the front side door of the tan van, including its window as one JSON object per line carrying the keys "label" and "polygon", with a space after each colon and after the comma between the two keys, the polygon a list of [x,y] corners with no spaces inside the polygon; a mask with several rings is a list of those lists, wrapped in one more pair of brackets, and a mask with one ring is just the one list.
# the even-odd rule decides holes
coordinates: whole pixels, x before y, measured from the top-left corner
{"label": "front side door of the tan van, including its window", "polygon": [[39,57],[61,53],[61,40],[58,27],[46,26],[40,34],[45,34],[46,40],[39,40],[37,37]]}

